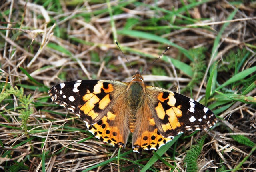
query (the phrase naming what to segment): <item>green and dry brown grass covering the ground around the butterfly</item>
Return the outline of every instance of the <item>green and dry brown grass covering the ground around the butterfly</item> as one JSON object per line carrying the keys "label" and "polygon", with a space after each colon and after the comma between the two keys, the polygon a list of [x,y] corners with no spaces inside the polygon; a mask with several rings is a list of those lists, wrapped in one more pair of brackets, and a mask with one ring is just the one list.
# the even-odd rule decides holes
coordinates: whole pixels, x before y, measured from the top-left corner
{"label": "green and dry brown grass covering the ground around the butterfly", "polygon": [[[44,0],[0,4],[0,171],[255,171],[254,1]],[[54,104],[62,81],[146,84],[192,97],[218,116],[210,132],[186,132],[137,154],[98,141]]]}

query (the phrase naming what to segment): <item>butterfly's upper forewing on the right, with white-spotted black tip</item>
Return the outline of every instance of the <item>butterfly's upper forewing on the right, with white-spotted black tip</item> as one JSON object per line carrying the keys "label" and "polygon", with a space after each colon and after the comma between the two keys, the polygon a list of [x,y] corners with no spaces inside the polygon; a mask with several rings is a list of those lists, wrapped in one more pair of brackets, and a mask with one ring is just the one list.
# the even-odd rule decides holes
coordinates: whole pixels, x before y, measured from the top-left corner
{"label": "butterfly's upper forewing on the right, with white-spotted black tip", "polygon": [[146,86],[146,90],[154,110],[152,116],[165,138],[188,130],[206,130],[216,123],[213,112],[191,98],[154,86]]}

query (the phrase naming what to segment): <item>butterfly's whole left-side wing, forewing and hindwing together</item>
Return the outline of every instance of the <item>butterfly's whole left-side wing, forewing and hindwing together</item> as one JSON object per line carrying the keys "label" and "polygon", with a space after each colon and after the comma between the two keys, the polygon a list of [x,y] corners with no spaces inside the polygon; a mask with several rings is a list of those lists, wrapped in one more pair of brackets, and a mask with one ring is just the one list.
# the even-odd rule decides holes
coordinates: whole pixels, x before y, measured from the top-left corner
{"label": "butterfly's whole left-side wing, forewing and hindwing together", "polygon": [[127,86],[112,80],[77,80],[53,86],[49,95],[56,104],[78,115],[96,138],[125,147],[130,133],[129,119],[123,113]]}

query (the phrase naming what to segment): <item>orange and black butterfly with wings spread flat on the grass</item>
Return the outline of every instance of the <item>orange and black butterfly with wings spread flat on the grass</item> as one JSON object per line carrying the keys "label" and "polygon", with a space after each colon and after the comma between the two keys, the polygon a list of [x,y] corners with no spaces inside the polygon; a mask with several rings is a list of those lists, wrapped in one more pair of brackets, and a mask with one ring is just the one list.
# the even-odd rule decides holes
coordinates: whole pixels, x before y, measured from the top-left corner
{"label": "orange and black butterfly with wings spread flat on the grass", "polygon": [[63,82],[49,90],[53,102],[72,110],[88,130],[116,148],[157,150],[186,131],[207,130],[216,124],[214,113],[182,94],[145,86],[140,70],[130,83],[114,80]]}

